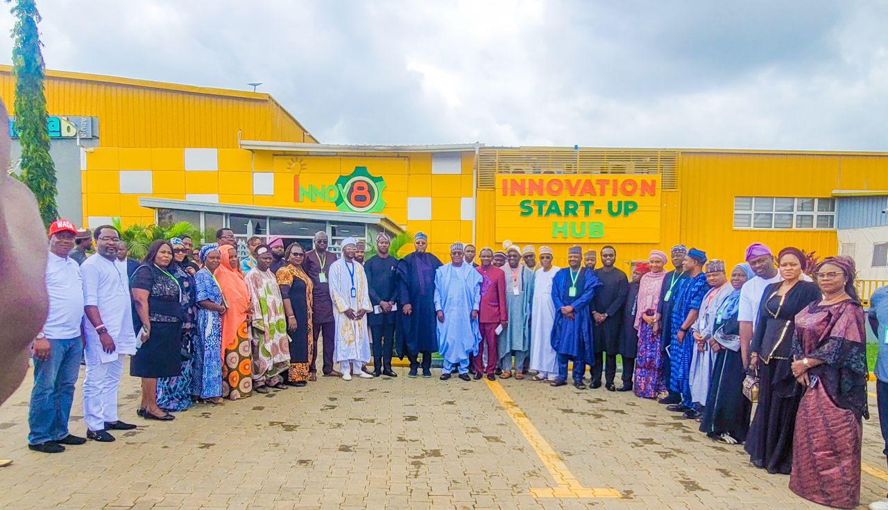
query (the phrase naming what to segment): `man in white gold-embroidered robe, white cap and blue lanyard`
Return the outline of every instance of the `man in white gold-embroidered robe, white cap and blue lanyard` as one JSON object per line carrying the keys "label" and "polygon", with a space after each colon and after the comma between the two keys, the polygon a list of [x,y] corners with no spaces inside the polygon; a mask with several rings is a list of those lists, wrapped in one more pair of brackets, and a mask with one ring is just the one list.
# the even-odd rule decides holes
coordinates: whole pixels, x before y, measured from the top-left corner
{"label": "man in white gold-embroidered robe, white cap and blue lanyard", "polygon": [[333,361],[340,365],[342,378],[351,381],[352,375],[372,379],[361,366],[370,361],[370,334],[367,314],[373,311],[367,287],[367,276],[360,263],[354,260],[357,241],[345,238],[341,244],[342,258],[330,265],[329,288],[333,301],[333,320],[336,329],[336,349]]}

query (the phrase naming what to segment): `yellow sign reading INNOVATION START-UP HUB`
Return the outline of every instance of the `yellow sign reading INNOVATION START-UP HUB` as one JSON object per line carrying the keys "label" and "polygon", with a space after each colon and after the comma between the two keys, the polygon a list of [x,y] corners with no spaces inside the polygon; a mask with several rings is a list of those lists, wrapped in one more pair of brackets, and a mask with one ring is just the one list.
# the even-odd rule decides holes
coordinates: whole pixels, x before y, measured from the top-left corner
{"label": "yellow sign reading INNOVATION START-UP HUB", "polygon": [[655,243],[660,177],[496,176],[496,239]]}

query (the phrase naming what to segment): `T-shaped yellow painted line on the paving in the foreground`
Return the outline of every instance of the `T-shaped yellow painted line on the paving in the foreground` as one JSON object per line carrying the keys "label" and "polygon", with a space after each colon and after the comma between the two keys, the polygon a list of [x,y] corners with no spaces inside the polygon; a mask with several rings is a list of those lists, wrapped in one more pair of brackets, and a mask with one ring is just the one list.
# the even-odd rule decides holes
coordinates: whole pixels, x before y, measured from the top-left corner
{"label": "T-shaped yellow painted line on the paving in the foreground", "polygon": [[558,453],[552,449],[551,445],[543,438],[540,431],[534,427],[527,415],[521,411],[521,408],[506,393],[499,381],[488,381],[488,388],[494,392],[496,399],[503,404],[505,411],[509,413],[511,420],[515,422],[515,426],[530,443],[536,455],[543,461],[543,466],[549,470],[549,474],[555,481],[554,488],[531,489],[530,493],[536,498],[622,498],[622,494],[616,489],[594,489],[583,487],[583,484],[576,479],[570,469],[561,459]]}

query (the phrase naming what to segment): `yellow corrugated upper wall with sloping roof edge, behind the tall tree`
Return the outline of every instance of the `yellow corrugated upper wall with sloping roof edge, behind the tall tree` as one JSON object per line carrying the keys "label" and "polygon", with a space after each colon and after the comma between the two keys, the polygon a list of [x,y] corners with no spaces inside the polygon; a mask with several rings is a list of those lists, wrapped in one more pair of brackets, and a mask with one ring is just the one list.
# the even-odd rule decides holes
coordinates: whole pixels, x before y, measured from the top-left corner
{"label": "yellow corrugated upper wall with sloping roof edge, behind the tall tree", "polygon": [[[8,69],[0,67],[0,97],[14,114]],[[267,94],[166,85],[48,71],[47,109],[99,117],[103,147],[237,148],[238,130],[243,139],[316,141]]]}

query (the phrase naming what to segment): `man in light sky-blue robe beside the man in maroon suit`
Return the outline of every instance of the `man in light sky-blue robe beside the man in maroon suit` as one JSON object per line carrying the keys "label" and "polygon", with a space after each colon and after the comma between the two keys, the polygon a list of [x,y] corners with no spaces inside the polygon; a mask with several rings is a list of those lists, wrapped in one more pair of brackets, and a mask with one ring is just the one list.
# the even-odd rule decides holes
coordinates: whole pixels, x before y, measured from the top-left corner
{"label": "man in light sky-blue robe beside the man in maroon suit", "polygon": [[441,381],[456,367],[459,378],[469,379],[469,355],[478,356],[481,332],[481,275],[464,262],[463,243],[450,246],[450,263],[435,271],[435,312],[438,315],[438,350],[444,358]]}

